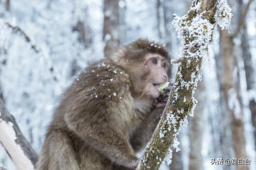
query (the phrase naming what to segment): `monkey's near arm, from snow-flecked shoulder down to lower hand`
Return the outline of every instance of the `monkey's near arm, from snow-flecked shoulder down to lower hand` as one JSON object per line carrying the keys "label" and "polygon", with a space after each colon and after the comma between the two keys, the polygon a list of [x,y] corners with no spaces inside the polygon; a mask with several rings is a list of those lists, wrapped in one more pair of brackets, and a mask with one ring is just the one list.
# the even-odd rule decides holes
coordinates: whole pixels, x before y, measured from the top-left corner
{"label": "monkey's near arm, from snow-flecked shoulder down to lower hand", "polygon": [[[120,72],[118,68],[115,70]],[[99,73],[98,78],[92,75],[94,78],[90,79],[92,85],[84,87],[84,90],[76,92],[78,85],[83,82],[76,83],[75,94],[68,94],[65,100],[67,102],[63,103],[63,105],[68,105],[70,101],[73,103],[67,107],[64,121],[68,129],[89,147],[115,164],[134,168],[138,164],[138,158],[114,119],[115,107],[118,106],[120,98],[125,98],[124,96],[130,92],[129,79],[124,75],[124,71],[122,74],[112,72],[114,75],[108,70],[106,75],[102,75],[103,73],[105,72]]]}

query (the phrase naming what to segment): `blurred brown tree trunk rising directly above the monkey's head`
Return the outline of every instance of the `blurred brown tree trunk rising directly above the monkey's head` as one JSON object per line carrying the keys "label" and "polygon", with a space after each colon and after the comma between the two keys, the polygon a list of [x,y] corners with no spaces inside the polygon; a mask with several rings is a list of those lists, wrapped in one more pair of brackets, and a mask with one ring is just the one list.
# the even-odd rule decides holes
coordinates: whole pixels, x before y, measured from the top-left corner
{"label": "blurred brown tree trunk rising directly above the monkey's head", "polygon": [[105,57],[114,54],[118,49],[119,40],[119,0],[104,0],[104,28],[103,40]]}

